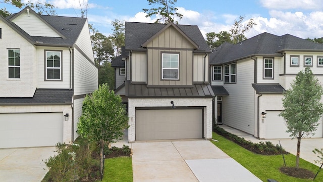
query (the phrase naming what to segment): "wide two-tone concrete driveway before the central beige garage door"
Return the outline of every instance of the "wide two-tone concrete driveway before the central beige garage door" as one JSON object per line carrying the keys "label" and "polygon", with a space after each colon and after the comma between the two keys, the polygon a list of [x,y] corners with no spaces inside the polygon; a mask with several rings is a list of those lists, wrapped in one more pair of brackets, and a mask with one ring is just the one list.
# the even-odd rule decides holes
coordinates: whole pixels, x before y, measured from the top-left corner
{"label": "wide two-tone concrete driveway before the central beige garage door", "polygon": [[210,141],[132,144],[133,181],[261,181]]}

